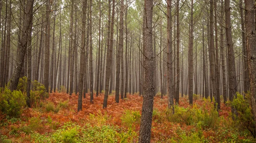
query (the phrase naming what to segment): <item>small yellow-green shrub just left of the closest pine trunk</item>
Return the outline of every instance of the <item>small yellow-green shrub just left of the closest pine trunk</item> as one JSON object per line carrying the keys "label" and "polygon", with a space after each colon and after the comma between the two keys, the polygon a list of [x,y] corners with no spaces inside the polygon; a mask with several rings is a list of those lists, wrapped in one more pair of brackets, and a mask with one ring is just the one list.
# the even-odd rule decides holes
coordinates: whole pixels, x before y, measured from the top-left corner
{"label": "small yellow-green shrub just left of the closest pine trunk", "polygon": [[139,111],[125,110],[121,117],[122,124],[131,128],[133,127],[133,123],[140,123],[140,116]]}

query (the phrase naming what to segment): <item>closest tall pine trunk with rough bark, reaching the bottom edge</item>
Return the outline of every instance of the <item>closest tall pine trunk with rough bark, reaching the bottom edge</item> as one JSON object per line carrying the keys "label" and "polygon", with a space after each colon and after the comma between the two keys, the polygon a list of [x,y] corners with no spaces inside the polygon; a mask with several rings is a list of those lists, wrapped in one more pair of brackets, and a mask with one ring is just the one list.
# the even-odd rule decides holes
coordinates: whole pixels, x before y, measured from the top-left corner
{"label": "closest tall pine trunk with rough bark, reaching the bottom edge", "polygon": [[153,0],[145,0],[144,10],[145,13],[143,17],[143,53],[146,57],[144,58],[145,82],[139,143],[150,143],[154,101],[154,53],[152,47]]}

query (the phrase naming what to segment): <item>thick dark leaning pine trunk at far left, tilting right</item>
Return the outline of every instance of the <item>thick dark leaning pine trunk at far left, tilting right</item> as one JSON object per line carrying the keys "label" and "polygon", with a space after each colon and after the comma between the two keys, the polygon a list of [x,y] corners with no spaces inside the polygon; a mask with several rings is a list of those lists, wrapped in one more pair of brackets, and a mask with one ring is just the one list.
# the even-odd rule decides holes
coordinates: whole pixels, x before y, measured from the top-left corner
{"label": "thick dark leaning pine trunk at far left, tilting right", "polygon": [[21,39],[19,39],[19,43],[17,50],[17,62],[16,62],[16,67],[12,75],[12,79],[10,79],[10,90],[16,90],[20,73],[23,67],[24,63],[24,56],[26,53],[26,48],[28,44],[28,37],[29,34],[31,33],[31,26],[32,26],[32,18],[33,18],[33,4],[34,0],[28,0],[26,3],[26,9],[25,9],[25,19],[23,22],[23,27],[22,27],[22,32],[21,32]]}

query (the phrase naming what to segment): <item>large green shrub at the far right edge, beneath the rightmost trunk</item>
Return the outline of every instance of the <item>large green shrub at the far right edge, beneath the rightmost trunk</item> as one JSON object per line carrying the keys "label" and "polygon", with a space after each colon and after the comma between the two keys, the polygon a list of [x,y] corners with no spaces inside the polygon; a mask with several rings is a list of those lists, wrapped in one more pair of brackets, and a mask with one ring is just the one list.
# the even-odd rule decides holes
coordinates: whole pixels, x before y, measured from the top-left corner
{"label": "large green shrub at the far right edge, beneath the rightmost trunk", "polygon": [[237,98],[234,98],[229,104],[231,107],[235,108],[238,113],[238,116],[235,117],[237,125],[239,125],[241,129],[249,130],[255,138],[256,126],[250,107],[250,93],[246,94],[245,98],[243,98],[243,95],[237,93]]}

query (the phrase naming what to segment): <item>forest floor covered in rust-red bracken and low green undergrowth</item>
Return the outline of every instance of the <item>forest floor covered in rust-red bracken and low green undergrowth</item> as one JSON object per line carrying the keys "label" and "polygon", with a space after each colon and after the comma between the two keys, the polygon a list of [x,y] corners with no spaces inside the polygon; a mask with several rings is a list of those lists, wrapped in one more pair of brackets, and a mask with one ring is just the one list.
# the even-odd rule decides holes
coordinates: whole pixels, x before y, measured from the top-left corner
{"label": "forest floor covered in rust-red bracken and low green undergrowth", "polygon": [[[108,97],[108,107],[102,109],[104,95],[86,94],[82,111],[77,112],[78,95],[50,93],[37,107],[24,108],[19,118],[0,115],[0,142],[3,143],[136,143],[140,131],[143,97],[127,95],[115,103]],[[230,107],[221,103],[215,114],[212,102],[201,99],[189,105],[180,98],[175,114],[167,108],[167,97],[154,97],[151,129],[152,143],[252,143],[256,142],[246,129],[235,126]],[[53,103],[53,107],[51,106]],[[52,110],[52,111],[51,111]]]}

